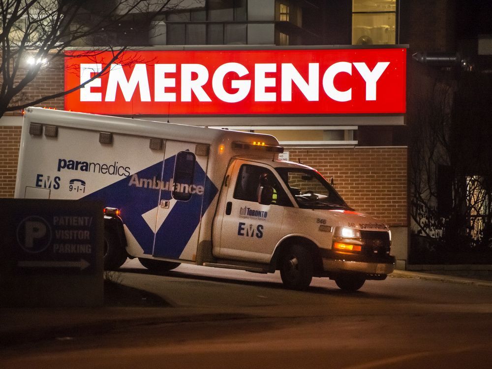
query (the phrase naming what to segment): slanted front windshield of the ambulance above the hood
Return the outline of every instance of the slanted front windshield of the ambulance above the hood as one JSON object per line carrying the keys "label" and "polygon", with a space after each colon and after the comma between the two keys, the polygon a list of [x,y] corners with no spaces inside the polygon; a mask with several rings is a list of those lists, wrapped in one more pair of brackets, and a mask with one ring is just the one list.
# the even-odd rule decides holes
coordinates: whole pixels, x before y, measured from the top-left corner
{"label": "slanted front windshield of the ambulance above the hood", "polygon": [[350,209],[318,172],[303,168],[277,168],[300,208]]}

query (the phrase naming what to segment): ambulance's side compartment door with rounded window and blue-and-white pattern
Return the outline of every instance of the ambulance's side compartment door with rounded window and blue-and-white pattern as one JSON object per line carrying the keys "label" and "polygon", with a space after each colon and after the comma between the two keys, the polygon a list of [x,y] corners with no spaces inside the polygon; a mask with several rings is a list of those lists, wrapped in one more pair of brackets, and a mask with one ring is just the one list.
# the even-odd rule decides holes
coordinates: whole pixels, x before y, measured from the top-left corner
{"label": "ambulance's side compartment door with rounded window and blue-and-white pattern", "polygon": [[166,141],[153,255],[195,260],[209,146]]}

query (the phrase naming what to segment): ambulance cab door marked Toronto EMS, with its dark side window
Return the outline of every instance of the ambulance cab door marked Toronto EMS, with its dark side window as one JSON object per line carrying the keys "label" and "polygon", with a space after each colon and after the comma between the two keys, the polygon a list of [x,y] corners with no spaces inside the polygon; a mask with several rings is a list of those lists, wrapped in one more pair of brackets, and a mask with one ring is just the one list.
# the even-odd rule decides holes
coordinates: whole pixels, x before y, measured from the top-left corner
{"label": "ambulance cab door marked Toronto EMS, with its dark side window", "polygon": [[[220,256],[269,262],[281,235],[284,206],[289,201],[271,168],[237,160],[227,190],[223,215]],[[275,189],[270,205],[258,203],[258,187],[268,178]]]}

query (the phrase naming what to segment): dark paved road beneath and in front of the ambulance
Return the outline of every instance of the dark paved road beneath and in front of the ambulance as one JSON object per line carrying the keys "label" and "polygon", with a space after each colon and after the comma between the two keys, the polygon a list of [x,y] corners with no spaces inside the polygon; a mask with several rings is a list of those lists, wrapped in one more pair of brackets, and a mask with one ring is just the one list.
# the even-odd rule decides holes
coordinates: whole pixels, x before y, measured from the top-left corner
{"label": "dark paved road beneath and in front of the ambulance", "polygon": [[[161,295],[166,311],[216,314],[119,325],[97,335],[11,347],[2,368],[490,368],[492,287],[389,277],[347,294],[315,279],[307,292],[278,275],[137,261],[115,275]],[[211,315],[213,316],[213,315]],[[3,362],[3,363],[2,363]]]}

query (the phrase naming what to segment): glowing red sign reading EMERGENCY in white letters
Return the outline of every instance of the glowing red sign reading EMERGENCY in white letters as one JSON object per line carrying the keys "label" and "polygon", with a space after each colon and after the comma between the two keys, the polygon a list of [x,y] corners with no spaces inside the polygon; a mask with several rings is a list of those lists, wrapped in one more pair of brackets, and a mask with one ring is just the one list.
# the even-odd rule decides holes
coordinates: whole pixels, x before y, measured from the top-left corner
{"label": "glowing red sign reading EMERGENCY in white letters", "polygon": [[112,115],[403,114],[406,49],[72,51],[65,109]]}

